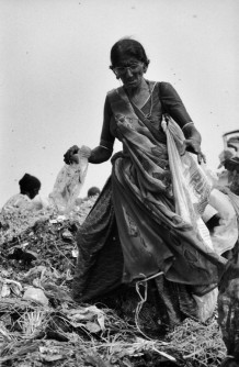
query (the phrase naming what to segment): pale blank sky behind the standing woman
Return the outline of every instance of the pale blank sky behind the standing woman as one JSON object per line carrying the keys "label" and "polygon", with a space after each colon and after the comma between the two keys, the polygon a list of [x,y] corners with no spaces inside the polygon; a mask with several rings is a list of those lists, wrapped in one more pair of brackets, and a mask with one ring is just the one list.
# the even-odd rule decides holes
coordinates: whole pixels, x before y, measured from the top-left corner
{"label": "pale blank sky behind the standing woman", "polygon": [[[52,191],[73,144],[99,144],[110,49],[146,48],[146,77],[171,82],[216,169],[221,134],[239,129],[238,0],[0,0],[0,207],[32,174]],[[116,151],[121,147],[116,144]],[[111,163],[90,165],[81,197]]]}

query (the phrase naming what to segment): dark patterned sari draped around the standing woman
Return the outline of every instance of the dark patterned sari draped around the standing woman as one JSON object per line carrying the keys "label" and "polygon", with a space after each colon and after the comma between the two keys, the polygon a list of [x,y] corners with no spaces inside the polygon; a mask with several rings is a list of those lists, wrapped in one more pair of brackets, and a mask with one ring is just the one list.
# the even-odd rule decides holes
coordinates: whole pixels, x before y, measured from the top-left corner
{"label": "dark patterned sari draped around the standing woman", "polygon": [[[145,125],[123,89],[109,97],[123,153],[112,158],[112,176],[79,231],[73,297],[99,299],[121,283],[163,271],[152,281],[152,293],[166,309],[166,323],[175,324],[182,314],[196,315],[192,292],[213,289],[226,260],[175,213],[164,133],[155,135]],[[209,188],[196,171],[194,179],[203,188],[198,207],[205,205]],[[150,300],[148,309],[153,309]],[[157,311],[155,316],[163,319]]]}

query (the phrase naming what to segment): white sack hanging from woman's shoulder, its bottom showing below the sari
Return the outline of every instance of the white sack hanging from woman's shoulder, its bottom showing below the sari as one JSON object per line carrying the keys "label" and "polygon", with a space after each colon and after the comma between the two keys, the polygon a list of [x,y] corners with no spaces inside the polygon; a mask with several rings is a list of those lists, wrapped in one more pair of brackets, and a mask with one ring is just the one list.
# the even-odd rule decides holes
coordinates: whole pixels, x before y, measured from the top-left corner
{"label": "white sack hanging from woman's shoulder, its bottom showing below the sari", "polygon": [[[185,222],[197,229],[205,248],[214,251],[209,231],[201,215],[209,200],[212,182],[204,170],[194,162],[190,153],[183,153],[184,135],[179,125],[171,120],[162,123],[167,135],[170,170],[172,174],[175,212]],[[193,294],[197,303],[197,318],[205,322],[212,316],[217,304],[217,288],[202,297]]]}

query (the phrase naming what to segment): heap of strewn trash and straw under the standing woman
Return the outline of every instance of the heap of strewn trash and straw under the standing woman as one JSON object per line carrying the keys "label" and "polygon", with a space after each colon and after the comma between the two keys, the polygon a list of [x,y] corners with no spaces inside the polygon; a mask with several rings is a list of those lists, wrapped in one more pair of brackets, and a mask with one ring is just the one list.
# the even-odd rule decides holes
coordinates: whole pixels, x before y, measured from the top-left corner
{"label": "heap of strewn trash and straw under the standing woman", "polygon": [[152,340],[116,310],[72,300],[77,232],[94,201],[67,216],[0,219],[0,366],[218,366],[226,348],[216,314]]}

